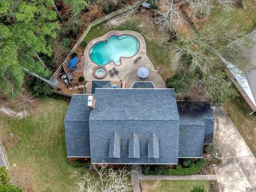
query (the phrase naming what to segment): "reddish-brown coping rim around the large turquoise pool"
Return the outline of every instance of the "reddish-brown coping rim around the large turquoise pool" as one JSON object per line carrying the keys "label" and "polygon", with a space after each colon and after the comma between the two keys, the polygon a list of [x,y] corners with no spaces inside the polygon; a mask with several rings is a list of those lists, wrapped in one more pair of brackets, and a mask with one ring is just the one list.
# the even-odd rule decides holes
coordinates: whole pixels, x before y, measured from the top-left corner
{"label": "reddish-brown coping rim around the large turquoise pool", "polygon": [[[95,41],[95,39],[93,39],[93,40],[91,41],[91,42],[93,42],[93,43],[92,43],[92,44],[91,44],[91,42],[89,43],[89,44],[91,44],[91,45],[89,46],[89,50],[88,50],[87,53],[88,53],[88,57],[90,58],[91,62],[93,62],[93,60],[92,60],[92,58],[91,58],[91,54],[90,54],[92,47],[93,47],[95,44],[99,43],[99,42],[107,42],[108,39],[109,39],[111,36],[117,36],[117,37],[120,37],[120,36],[122,36],[122,35],[130,35],[130,36],[133,36],[134,38],[137,39],[137,41],[138,41],[138,43],[139,43],[139,49],[138,49],[138,51],[137,51],[134,55],[132,55],[131,57],[120,57],[120,64],[119,64],[119,65],[117,65],[114,60],[111,60],[110,62],[106,63],[105,65],[98,65],[97,63],[93,62],[95,65],[97,65],[97,66],[106,66],[106,65],[110,64],[111,62],[113,62],[115,66],[121,66],[121,65],[122,65],[122,59],[123,59],[123,58],[125,58],[125,59],[132,58],[132,57],[134,57],[135,55],[137,55],[137,54],[140,52],[140,40],[139,40],[138,37],[136,37],[136,36],[133,35],[133,34],[128,34],[128,33],[127,33],[127,34],[125,34],[125,33],[120,34],[120,33],[118,33],[118,32],[119,32],[119,31],[109,31],[109,32],[106,33],[105,35],[102,35],[102,36],[100,36],[100,37],[98,37],[98,38],[95,38],[95,39],[99,39],[99,38],[101,38],[101,37],[106,36],[105,39],[99,40],[99,41]],[[122,31],[121,31],[121,32],[122,32]],[[88,44],[88,45],[89,45],[89,44]]]}

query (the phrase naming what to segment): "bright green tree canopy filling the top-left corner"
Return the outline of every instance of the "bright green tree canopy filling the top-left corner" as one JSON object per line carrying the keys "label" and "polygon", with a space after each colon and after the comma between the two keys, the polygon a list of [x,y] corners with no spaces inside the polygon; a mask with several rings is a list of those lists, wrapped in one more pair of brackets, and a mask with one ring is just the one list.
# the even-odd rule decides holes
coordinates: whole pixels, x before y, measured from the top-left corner
{"label": "bright green tree canopy filling the top-left corner", "polygon": [[49,40],[57,36],[52,6],[52,0],[0,2],[0,94],[15,97],[22,92],[21,66],[49,76],[38,55],[51,55]]}

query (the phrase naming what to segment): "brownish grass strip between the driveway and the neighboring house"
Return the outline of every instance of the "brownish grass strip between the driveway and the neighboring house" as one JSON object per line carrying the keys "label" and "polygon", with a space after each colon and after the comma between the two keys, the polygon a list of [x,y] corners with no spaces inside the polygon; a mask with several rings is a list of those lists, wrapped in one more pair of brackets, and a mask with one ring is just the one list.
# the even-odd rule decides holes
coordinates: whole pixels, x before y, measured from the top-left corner
{"label": "brownish grass strip between the driveway and the neighboring house", "polygon": [[222,107],[256,157],[256,114],[249,115],[252,109],[241,95],[228,100]]}

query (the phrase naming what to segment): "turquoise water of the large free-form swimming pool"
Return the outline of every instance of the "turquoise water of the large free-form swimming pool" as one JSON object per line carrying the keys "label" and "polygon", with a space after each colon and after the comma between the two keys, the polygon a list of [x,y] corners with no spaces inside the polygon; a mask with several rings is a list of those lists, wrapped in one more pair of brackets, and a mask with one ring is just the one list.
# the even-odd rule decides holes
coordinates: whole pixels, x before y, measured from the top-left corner
{"label": "turquoise water of the large free-form swimming pool", "polygon": [[132,57],[139,51],[139,41],[131,35],[113,35],[108,41],[95,43],[90,51],[91,60],[99,66],[110,61],[116,65],[121,63],[121,57]]}

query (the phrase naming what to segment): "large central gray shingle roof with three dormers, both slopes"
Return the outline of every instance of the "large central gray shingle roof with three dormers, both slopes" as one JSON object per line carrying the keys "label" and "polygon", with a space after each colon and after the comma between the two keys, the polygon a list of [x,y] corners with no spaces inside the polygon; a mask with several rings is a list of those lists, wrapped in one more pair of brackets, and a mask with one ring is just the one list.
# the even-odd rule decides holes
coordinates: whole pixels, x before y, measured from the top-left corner
{"label": "large central gray shingle roof with three dormers, both slopes", "polygon": [[[94,97],[92,163],[178,163],[179,114],[173,89],[96,89]],[[121,155],[109,158],[109,142],[115,132],[121,137]],[[150,145],[153,149],[148,154]]]}

